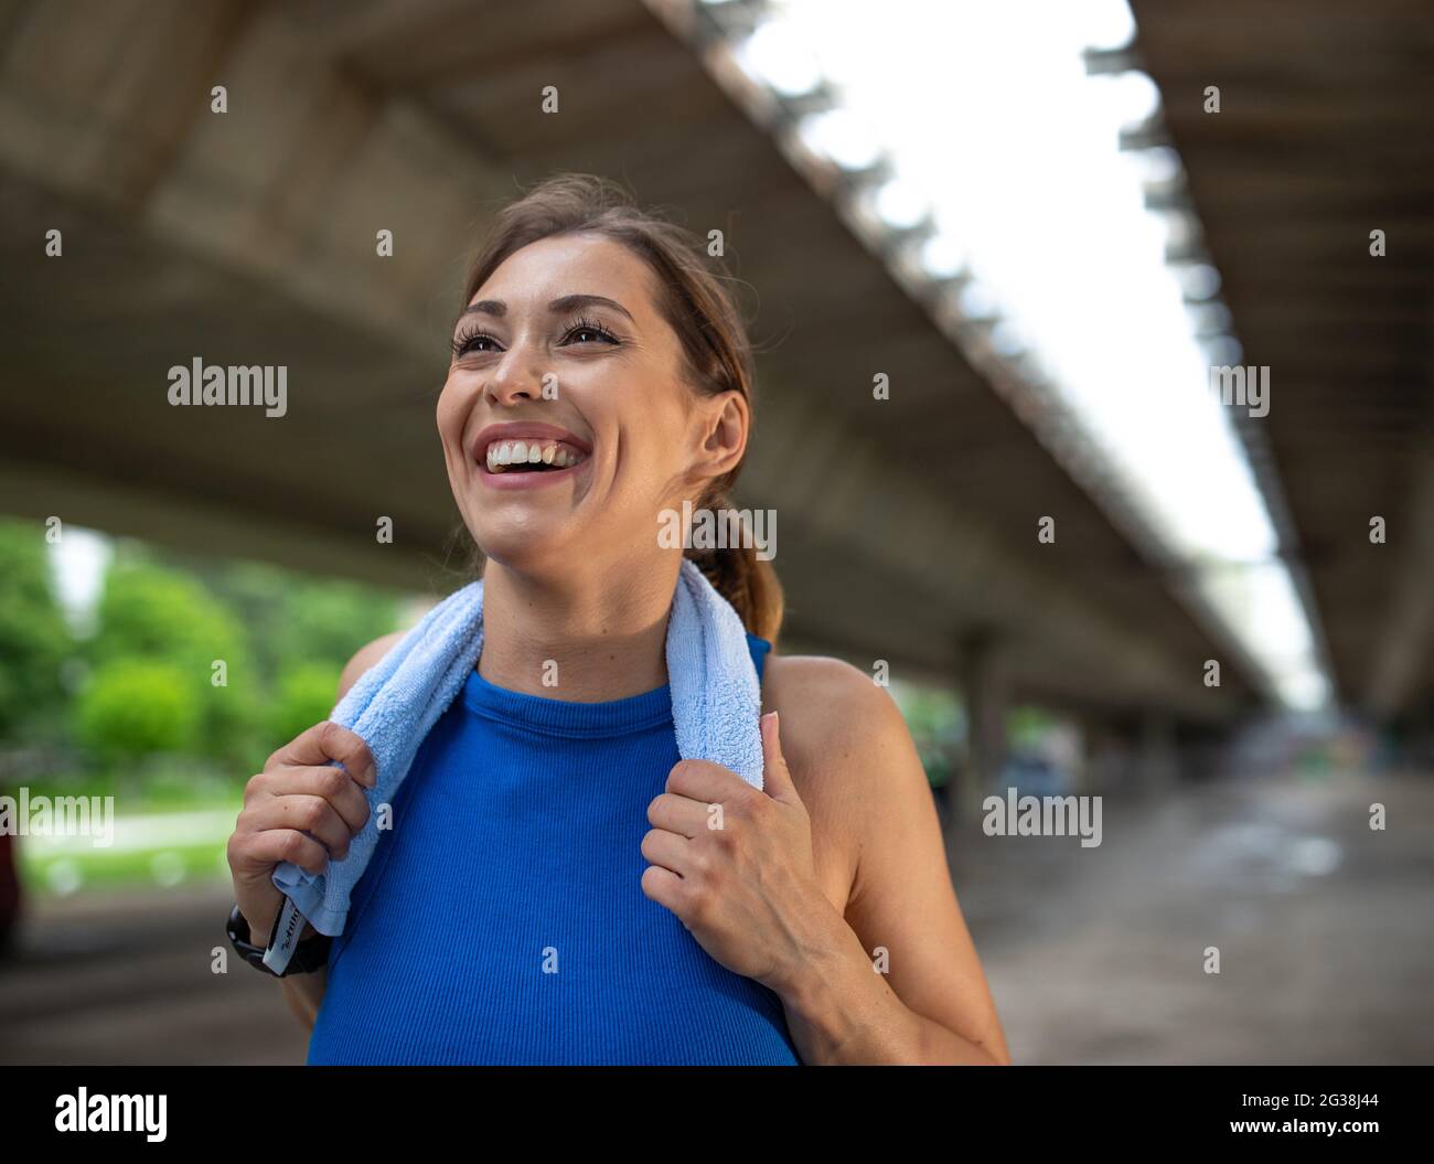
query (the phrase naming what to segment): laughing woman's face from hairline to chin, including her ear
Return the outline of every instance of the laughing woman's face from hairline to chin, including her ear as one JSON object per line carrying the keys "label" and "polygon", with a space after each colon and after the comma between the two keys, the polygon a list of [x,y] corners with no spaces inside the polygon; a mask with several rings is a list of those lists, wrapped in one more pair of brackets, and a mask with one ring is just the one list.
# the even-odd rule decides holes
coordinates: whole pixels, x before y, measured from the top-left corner
{"label": "laughing woman's face from hairline to chin, including her ear", "polygon": [[652,552],[661,510],[740,459],[746,404],[681,380],[652,278],[611,239],[545,238],[509,255],[457,320],[439,436],[492,560],[572,573]]}

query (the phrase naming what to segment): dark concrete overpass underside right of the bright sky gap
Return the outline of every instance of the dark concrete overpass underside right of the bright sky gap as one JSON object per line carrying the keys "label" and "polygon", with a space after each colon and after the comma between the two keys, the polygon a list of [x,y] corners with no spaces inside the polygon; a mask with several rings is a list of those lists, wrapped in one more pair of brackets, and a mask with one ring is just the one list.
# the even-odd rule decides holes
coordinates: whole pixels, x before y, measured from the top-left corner
{"label": "dark concrete overpass underside right of the bright sky gap", "polygon": [[[1434,710],[1434,10],[1134,0],[1245,347],[1335,681]],[[1219,113],[1205,112],[1219,86]],[[1372,257],[1371,231],[1387,254]],[[1381,516],[1388,542],[1371,545]]]}

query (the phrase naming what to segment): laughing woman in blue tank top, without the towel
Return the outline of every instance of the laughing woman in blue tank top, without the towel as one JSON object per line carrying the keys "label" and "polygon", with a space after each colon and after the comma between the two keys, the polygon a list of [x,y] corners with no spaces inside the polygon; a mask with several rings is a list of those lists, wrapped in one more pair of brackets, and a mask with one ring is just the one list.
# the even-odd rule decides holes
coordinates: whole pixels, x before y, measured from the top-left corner
{"label": "laughing woman in blue tank top, without the towel", "polygon": [[[282,979],[308,1061],[1008,1062],[899,711],[846,664],[767,655],[782,596],[750,548],[687,553],[749,631],[764,788],[678,761],[684,550],[657,530],[727,507],[747,447],[723,275],[565,175],[499,215],[465,304],[437,429],[486,559],[483,652],[327,966]],[[399,638],[358,651],[340,697]],[[250,781],[229,862],[258,940],[275,863],[321,872],[367,821],[369,763],[318,724]]]}

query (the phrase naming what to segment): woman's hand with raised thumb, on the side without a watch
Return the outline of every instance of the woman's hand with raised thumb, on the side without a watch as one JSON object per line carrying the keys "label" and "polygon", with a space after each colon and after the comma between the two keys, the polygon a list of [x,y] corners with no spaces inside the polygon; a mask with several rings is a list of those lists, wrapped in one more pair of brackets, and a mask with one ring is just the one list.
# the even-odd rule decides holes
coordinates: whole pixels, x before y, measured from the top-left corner
{"label": "woman's hand with raised thumb, on the side without a watch", "polygon": [[727,969],[780,992],[827,945],[839,915],[817,884],[812,820],[776,712],[761,718],[761,790],[706,760],[673,767],[647,808],[642,892]]}

